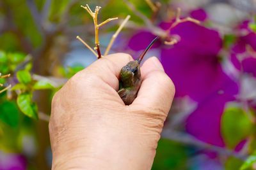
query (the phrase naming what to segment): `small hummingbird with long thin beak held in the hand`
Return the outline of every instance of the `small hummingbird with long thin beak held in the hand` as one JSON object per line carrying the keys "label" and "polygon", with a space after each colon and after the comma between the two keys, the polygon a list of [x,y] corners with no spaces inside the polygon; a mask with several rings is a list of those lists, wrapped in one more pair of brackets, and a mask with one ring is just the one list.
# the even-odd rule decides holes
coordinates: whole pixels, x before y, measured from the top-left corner
{"label": "small hummingbird with long thin beak held in the hand", "polygon": [[138,90],[141,85],[140,62],[150,47],[156,42],[159,37],[151,41],[147,48],[141,53],[136,60],[128,62],[120,71],[119,90],[118,94],[124,101],[125,105],[130,105],[137,97]]}

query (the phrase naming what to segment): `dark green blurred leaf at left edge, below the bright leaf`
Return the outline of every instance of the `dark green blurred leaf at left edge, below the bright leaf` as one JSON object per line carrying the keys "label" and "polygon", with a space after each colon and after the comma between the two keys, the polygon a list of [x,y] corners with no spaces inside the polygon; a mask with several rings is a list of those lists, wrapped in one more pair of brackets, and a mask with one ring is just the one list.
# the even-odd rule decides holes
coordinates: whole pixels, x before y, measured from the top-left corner
{"label": "dark green blurred leaf at left edge, below the bright leaf", "polygon": [[10,101],[4,101],[1,103],[0,120],[11,127],[17,127],[19,123],[19,108],[17,108],[17,105]]}

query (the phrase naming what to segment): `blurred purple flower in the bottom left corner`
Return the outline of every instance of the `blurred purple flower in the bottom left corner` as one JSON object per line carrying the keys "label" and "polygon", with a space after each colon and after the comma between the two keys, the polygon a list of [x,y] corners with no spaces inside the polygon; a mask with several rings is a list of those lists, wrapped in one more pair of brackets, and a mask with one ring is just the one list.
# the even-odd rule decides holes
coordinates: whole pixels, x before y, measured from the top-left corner
{"label": "blurred purple flower in the bottom left corner", "polygon": [[19,153],[0,152],[0,170],[25,170],[26,159]]}

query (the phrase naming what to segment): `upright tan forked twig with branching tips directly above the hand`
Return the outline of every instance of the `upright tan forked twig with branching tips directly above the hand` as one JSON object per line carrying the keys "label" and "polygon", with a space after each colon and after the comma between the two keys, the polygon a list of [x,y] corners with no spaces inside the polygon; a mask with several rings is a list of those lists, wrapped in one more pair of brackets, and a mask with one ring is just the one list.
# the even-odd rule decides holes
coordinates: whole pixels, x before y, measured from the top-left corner
{"label": "upright tan forked twig with branching tips directly above the hand", "polygon": [[101,52],[100,52],[100,42],[99,42],[99,27],[101,27],[102,25],[107,24],[111,20],[116,20],[117,18],[108,18],[104,22],[98,24],[98,14],[99,14],[99,10],[100,10],[101,7],[96,6],[94,12],[91,10],[91,8],[90,8],[90,6],[88,6],[88,4],[86,4],[86,6],[81,6],[81,7],[84,8],[86,11],[88,11],[88,13],[93,18],[94,29],[95,29],[95,47],[94,47],[94,50],[97,50],[98,58],[100,59]]}

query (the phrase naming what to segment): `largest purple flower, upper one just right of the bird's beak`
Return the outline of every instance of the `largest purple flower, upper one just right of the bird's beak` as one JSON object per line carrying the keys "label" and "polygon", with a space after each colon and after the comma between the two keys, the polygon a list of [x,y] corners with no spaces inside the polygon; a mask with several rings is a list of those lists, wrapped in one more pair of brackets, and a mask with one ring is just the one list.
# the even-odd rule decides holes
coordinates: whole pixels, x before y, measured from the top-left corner
{"label": "largest purple flower, upper one just right of the bird's beak", "polygon": [[176,96],[204,101],[216,92],[234,96],[237,86],[224,73],[218,59],[221,38],[218,32],[192,22],[178,25],[172,34],[180,36],[173,48],[162,50],[161,60],[176,87]]}

